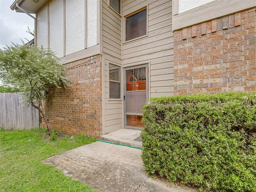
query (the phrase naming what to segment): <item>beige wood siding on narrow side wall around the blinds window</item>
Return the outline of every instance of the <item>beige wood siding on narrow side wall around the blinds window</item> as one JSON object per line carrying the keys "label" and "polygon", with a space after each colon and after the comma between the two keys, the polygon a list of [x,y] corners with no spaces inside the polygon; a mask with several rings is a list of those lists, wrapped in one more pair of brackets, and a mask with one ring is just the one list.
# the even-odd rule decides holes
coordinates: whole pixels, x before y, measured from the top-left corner
{"label": "beige wood siding on narrow side wall around the blinds window", "polygon": [[[108,6],[108,0],[102,0],[102,54],[104,55],[102,134],[106,134],[122,128],[123,110],[122,94],[120,99],[109,99],[109,63],[121,67],[121,16]],[[122,69],[120,72],[122,73]]]}

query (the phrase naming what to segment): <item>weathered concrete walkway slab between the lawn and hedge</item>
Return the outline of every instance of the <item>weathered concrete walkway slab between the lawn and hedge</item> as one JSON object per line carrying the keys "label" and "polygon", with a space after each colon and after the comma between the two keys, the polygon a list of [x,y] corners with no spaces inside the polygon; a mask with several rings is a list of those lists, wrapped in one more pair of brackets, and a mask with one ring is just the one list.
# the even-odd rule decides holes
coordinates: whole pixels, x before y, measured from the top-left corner
{"label": "weathered concrete walkway slab between the lawn and hedge", "polygon": [[102,192],[194,191],[152,180],[146,175],[140,156],[140,149],[97,141],[43,162]]}

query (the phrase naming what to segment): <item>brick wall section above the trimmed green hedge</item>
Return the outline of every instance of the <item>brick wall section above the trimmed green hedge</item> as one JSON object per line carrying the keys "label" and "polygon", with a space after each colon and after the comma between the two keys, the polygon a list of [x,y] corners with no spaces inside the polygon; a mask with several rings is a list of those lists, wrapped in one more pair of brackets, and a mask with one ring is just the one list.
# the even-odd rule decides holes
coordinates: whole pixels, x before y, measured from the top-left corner
{"label": "brick wall section above the trimmed green hedge", "polygon": [[256,91],[255,8],[174,31],[174,94]]}

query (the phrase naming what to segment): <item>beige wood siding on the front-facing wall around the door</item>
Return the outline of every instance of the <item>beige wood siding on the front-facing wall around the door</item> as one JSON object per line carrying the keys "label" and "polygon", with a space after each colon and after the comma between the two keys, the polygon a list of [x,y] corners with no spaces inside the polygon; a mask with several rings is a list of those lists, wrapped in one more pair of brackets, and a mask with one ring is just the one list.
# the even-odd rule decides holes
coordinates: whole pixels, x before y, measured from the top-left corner
{"label": "beige wood siding on the front-facing wall around the door", "polygon": [[[124,43],[123,67],[149,64],[150,97],[174,94],[171,0],[125,0],[123,16],[148,6],[148,36]],[[124,28],[123,28],[124,29]]]}

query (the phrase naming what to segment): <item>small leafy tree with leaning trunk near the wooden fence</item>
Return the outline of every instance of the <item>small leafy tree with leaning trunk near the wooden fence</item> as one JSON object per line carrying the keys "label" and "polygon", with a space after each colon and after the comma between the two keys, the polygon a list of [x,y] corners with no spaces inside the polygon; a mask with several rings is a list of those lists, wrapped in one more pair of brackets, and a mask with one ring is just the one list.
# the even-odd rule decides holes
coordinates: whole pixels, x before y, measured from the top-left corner
{"label": "small leafy tree with leaning trunk near the wooden fence", "polygon": [[18,88],[26,105],[31,104],[40,111],[50,136],[50,124],[39,100],[47,101],[47,91],[54,87],[69,86],[68,79],[64,77],[65,71],[50,49],[14,43],[0,49],[0,79],[4,84]]}

